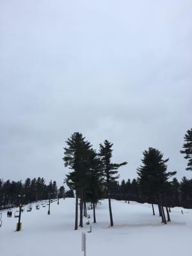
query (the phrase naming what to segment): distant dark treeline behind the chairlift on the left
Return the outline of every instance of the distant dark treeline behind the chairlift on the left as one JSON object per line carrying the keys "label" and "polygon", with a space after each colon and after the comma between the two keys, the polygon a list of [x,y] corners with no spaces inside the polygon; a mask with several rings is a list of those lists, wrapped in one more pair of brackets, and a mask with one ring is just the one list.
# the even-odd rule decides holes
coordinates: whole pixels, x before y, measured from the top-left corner
{"label": "distant dark treeline behind the chairlift on the left", "polygon": [[56,181],[50,181],[45,184],[45,179],[26,179],[24,183],[21,180],[15,182],[0,179],[0,209],[18,206],[20,203],[28,204],[38,200],[63,197],[65,188],[57,187]]}

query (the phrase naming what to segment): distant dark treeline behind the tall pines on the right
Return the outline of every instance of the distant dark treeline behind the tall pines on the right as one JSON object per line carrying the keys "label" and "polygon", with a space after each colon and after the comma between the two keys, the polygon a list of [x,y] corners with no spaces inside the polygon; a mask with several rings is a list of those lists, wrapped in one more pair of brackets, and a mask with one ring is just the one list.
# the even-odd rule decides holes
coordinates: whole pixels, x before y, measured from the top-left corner
{"label": "distant dark treeline behind the tall pines on the right", "polygon": [[[137,179],[133,179],[132,181],[130,179],[127,181],[122,180],[120,184],[119,182],[114,182],[111,196],[113,199],[125,200],[127,203],[129,203],[129,201],[151,203],[147,197],[142,195]],[[179,206],[192,208],[192,179],[183,177],[179,182],[177,178],[173,178],[172,181],[166,184],[162,200],[163,204],[168,200],[169,207]],[[153,200],[153,202],[157,204],[155,200]]]}

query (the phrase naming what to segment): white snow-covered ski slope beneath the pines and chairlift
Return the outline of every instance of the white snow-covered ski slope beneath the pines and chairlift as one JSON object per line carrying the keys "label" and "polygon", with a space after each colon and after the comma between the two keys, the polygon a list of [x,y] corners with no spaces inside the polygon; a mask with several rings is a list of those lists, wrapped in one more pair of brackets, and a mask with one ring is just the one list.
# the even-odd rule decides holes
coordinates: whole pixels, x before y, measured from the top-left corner
{"label": "white snow-covered ski slope beneath the pines and chairlift", "polygon": [[[74,198],[51,204],[51,215],[47,205],[40,210],[22,212],[22,230],[15,232],[18,218],[6,218],[0,228],[1,256],[61,256],[83,255],[81,232],[86,232],[87,256],[131,255],[131,256],[188,256],[191,255],[192,210],[180,207],[172,209],[172,222],[161,223],[158,214],[152,216],[151,206],[113,200],[114,227],[109,227],[108,201],[102,200],[97,206],[97,223],[93,224],[92,210],[90,223],[92,233],[86,225],[74,230]],[[156,207],[157,213],[157,207]]]}

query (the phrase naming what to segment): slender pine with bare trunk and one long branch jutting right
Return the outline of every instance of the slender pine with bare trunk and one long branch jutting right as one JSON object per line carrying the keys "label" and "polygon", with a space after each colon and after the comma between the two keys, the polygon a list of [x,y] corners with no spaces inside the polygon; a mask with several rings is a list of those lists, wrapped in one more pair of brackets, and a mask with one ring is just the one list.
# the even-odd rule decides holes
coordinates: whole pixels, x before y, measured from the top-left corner
{"label": "slender pine with bare trunk and one long branch jutting right", "polygon": [[108,193],[108,202],[109,202],[109,217],[110,217],[110,225],[113,227],[113,215],[111,210],[111,186],[113,182],[118,179],[119,175],[117,174],[117,169],[120,166],[127,164],[127,162],[114,164],[111,163],[112,157],[112,147],[113,143],[110,143],[108,140],[104,141],[104,145],[100,144],[99,156],[101,157],[103,164],[103,172],[104,172],[104,184]]}

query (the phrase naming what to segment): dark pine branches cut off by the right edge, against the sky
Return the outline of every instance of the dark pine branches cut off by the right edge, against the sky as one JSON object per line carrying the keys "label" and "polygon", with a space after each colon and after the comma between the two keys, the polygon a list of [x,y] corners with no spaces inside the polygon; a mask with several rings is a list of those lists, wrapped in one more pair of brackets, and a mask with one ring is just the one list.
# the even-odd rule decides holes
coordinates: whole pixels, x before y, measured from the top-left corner
{"label": "dark pine branches cut off by the right edge, against the sky", "polygon": [[188,159],[188,167],[186,168],[187,171],[192,171],[192,128],[191,130],[188,130],[186,135],[184,136],[184,145],[182,148],[184,150],[180,150],[181,154],[185,154],[184,156],[185,159]]}

